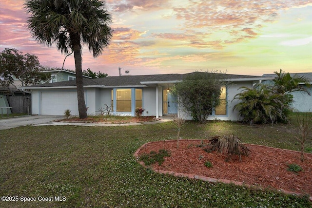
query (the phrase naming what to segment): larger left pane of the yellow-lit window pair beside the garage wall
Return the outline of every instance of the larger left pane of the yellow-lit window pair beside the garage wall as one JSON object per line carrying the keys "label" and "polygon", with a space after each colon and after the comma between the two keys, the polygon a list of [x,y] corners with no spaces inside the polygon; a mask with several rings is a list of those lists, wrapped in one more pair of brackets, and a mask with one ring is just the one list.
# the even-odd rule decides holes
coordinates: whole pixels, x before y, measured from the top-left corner
{"label": "larger left pane of the yellow-lit window pair beside the garage wall", "polygon": [[131,112],[131,89],[116,90],[117,112]]}

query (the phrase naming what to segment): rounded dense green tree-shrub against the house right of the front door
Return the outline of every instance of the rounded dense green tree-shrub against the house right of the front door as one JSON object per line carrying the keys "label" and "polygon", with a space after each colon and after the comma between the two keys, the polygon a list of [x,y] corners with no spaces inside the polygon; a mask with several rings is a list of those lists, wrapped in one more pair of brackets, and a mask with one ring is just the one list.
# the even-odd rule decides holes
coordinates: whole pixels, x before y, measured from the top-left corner
{"label": "rounded dense green tree-shrub against the house right of the front door", "polygon": [[213,109],[219,105],[221,86],[225,83],[221,74],[210,72],[195,72],[183,77],[177,83],[173,92],[178,96],[178,102],[191,113],[194,120],[205,123]]}

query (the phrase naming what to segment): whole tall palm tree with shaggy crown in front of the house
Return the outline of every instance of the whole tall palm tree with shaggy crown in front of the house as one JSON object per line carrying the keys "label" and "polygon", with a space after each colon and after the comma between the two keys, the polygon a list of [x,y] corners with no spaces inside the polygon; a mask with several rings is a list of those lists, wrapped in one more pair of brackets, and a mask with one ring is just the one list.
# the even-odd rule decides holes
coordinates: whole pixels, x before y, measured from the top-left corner
{"label": "whole tall palm tree with shaggy crown in front of the house", "polygon": [[87,117],[81,66],[82,44],[87,44],[98,57],[109,45],[113,30],[111,15],[99,0],[26,0],[25,8],[32,37],[41,44],[56,43],[61,53],[74,52],[78,111]]}

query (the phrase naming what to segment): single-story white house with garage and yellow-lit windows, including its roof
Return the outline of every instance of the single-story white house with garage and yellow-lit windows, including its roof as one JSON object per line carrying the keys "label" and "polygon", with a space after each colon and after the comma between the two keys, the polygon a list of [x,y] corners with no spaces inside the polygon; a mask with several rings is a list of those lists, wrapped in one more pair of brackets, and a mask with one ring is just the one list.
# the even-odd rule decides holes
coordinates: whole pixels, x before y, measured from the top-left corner
{"label": "single-story white house with garage and yellow-lit windows, including its roof", "polygon": [[[108,76],[96,79],[84,79],[85,103],[88,114],[99,114],[99,109],[113,106],[114,113],[135,116],[135,109],[143,107],[143,115],[159,116],[178,112],[177,99],[170,93],[170,87],[180,82],[184,75],[142,75]],[[223,75],[230,84],[222,87],[222,99],[209,119],[240,120],[234,105],[238,102],[234,96],[240,87],[252,88],[254,83],[270,80],[272,77]],[[45,83],[23,87],[32,91],[32,113],[63,115],[66,109],[78,115],[76,81]],[[168,92],[169,89],[169,92]],[[189,117],[188,119],[191,119]]]}

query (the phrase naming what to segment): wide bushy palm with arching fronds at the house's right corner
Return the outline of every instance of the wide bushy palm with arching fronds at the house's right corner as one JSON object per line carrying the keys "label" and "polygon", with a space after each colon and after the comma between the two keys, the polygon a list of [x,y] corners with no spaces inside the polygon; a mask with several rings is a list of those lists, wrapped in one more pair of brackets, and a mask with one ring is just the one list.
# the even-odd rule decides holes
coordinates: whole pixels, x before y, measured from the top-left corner
{"label": "wide bushy palm with arching fronds at the house's right corner", "polygon": [[286,109],[289,109],[288,97],[276,93],[272,86],[258,84],[254,88],[241,87],[241,93],[234,96],[240,102],[234,106],[243,122],[250,124],[287,122]]}

